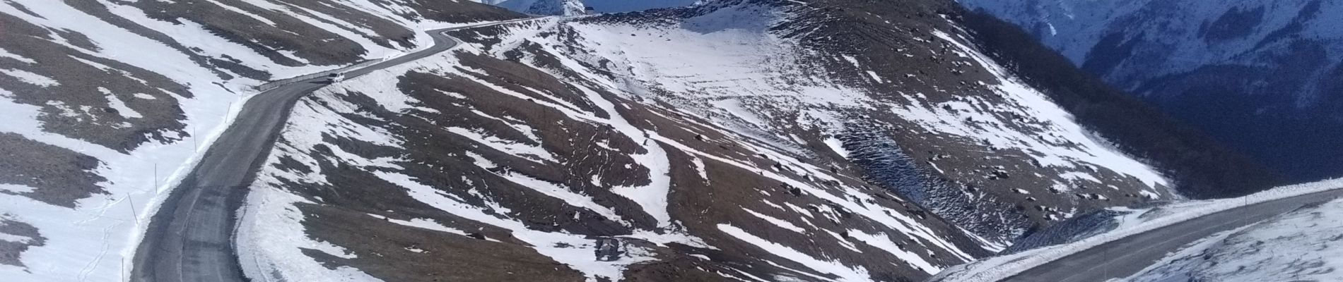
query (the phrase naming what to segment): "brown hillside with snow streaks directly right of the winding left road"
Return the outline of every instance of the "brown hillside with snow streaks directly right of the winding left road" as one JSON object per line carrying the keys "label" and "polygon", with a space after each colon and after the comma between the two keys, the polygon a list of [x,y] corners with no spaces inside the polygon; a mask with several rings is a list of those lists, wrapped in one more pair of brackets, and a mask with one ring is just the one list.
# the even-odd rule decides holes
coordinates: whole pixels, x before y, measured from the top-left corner
{"label": "brown hillside with snow streaks directly right of the winding left road", "polygon": [[[723,12],[751,17],[723,20],[775,20],[767,8],[735,5]],[[633,91],[661,90],[548,47],[571,25],[611,44],[637,29],[463,31],[498,41],[302,100],[247,200],[239,247],[248,274],[862,281],[923,277],[983,254],[860,172],[830,168],[835,158],[808,160],[788,140],[658,103]],[[768,37],[723,32],[713,36]]]}

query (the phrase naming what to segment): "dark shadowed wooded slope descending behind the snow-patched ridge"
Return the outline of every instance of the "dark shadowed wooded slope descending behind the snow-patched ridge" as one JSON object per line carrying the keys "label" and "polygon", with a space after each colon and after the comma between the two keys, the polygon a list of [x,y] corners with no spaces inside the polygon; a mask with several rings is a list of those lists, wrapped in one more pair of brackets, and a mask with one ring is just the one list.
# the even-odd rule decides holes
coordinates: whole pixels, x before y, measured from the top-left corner
{"label": "dark shadowed wooded slope descending behind the snow-patched ridge", "polygon": [[1217,198],[1245,195],[1272,187],[1280,176],[1249,156],[1232,151],[1195,128],[1172,123],[1136,98],[1076,69],[1065,57],[1017,27],[986,13],[967,13],[962,23],[975,31],[992,56],[1027,78],[1077,120],[1115,143],[1115,147],[1162,167],[1182,195]]}

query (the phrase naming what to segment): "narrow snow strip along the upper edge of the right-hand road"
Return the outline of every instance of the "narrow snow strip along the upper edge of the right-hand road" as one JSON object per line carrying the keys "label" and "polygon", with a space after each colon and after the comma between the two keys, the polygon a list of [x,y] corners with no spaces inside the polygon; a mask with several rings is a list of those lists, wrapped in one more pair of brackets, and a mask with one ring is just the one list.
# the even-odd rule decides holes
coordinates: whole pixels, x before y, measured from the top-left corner
{"label": "narrow snow strip along the upper edge of the right-hand road", "polygon": [[[1343,179],[1331,179],[1313,183],[1283,186],[1242,198],[1175,202],[1167,206],[1151,208],[1159,213],[1146,214],[1146,215],[1144,213],[1132,213],[1131,215],[1125,217],[1125,219],[1123,221],[1124,223],[1120,225],[1119,229],[1115,229],[1113,231],[1109,233],[1096,234],[1091,238],[1072,243],[1041,247],[1003,257],[992,257],[978,262],[955,266],[941,274],[937,274],[937,277],[935,277],[933,281],[963,281],[963,282],[1001,281],[1013,277],[1017,273],[1044,265],[1046,262],[1052,262],[1054,259],[1068,257],[1077,251],[1086,250],[1097,245],[1103,245],[1105,242],[1120,239],[1128,235],[1146,233],[1178,222],[1189,221],[1193,218],[1236,207],[1269,202],[1275,199],[1291,198],[1297,195],[1305,195],[1312,192],[1330,191],[1340,187],[1343,187]],[[1292,217],[1292,215],[1285,215],[1285,217]],[[1273,223],[1266,223],[1266,225],[1273,225]],[[1258,227],[1257,226],[1250,227],[1250,230],[1253,229]]]}

